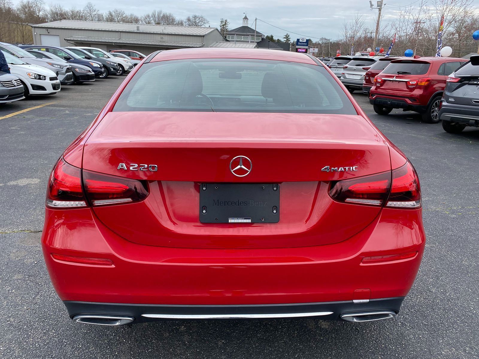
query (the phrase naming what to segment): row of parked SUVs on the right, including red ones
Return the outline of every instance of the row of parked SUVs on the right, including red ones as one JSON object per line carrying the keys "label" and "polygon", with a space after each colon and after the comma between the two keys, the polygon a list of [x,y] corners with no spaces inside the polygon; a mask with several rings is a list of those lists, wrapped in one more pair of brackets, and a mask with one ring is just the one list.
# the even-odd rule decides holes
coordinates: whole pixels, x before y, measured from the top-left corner
{"label": "row of parked SUVs on the right, including red ones", "polygon": [[350,92],[367,94],[377,114],[418,112],[450,133],[479,127],[479,56],[337,56],[325,64]]}

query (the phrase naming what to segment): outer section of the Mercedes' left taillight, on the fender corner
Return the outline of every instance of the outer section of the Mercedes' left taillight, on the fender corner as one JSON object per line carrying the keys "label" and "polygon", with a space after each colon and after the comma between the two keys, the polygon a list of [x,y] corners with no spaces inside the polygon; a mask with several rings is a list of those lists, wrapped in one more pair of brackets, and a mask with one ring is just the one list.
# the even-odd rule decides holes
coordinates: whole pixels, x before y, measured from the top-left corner
{"label": "outer section of the Mercedes' left taillight, on the fender corner", "polygon": [[81,170],[58,159],[50,175],[46,192],[48,207],[86,207],[85,197],[81,191]]}

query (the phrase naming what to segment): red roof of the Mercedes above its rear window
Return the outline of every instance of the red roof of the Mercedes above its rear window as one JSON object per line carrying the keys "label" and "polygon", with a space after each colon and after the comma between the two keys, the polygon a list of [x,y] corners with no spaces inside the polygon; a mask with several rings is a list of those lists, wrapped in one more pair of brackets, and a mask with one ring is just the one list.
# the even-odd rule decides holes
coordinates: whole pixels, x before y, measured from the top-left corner
{"label": "red roof of the Mercedes above its rear window", "polygon": [[247,49],[236,47],[201,47],[161,51],[160,53],[156,54],[150,60],[150,62],[194,58],[244,58],[258,60],[290,61],[317,65],[317,63],[312,58],[305,54],[281,50]]}

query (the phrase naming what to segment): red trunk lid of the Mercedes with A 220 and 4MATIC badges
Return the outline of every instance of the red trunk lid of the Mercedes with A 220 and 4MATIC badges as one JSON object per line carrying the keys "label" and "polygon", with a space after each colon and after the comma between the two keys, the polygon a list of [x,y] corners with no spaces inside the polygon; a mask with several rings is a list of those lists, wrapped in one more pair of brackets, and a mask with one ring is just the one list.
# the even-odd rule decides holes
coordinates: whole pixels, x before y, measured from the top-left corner
{"label": "red trunk lid of the Mercedes with A 220 and 4MATIC badges", "polygon": [[[230,170],[237,156],[251,159],[247,176]],[[119,168],[121,163],[126,169]],[[132,164],[158,170],[132,170]],[[335,202],[328,194],[330,183],[391,168],[382,135],[360,116],[111,112],[85,144],[83,169],[148,183],[142,202],[93,207],[105,225],[129,241],[267,248],[315,246],[354,236],[380,207]],[[279,221],[202,223],[201,186],[225,183],[278,185]]]}

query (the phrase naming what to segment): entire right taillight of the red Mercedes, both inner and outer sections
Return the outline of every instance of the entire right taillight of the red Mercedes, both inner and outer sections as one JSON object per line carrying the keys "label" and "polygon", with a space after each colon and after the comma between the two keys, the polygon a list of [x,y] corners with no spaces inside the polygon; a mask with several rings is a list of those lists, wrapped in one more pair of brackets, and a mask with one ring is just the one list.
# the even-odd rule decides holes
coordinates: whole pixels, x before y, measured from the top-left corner
{"label": "entire right taillight of the red Mercedes, both inner and outer sections", "polygon": [[410,162],[392,173],[387,171],[333,182],[329,194],[337,202],[395,208],[421,206],[419,178]]}

